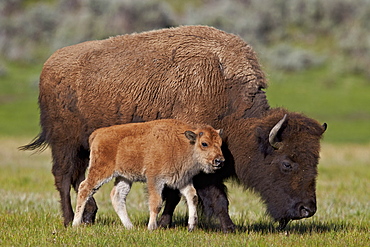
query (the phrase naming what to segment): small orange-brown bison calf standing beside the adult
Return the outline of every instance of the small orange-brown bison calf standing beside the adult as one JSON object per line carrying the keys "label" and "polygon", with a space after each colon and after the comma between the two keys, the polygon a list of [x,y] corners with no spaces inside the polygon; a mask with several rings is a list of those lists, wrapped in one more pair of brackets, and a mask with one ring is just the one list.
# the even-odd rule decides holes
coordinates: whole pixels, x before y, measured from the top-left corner
{"label": "small orange-brown bison calf standing beside the adult", "polygon": [[220,130],[191,126],[179,120],[157,120],[101,128],[90,138],[87,178],[80,184],[73,226],[81,224],[87,200],[104,183],[116,177],[111,200],[123,225],[133,227],[126,210],[126,196],[136,181],[146,181],[150,218],[148,229],[157,228],[164,186],[179,189],[189,209],[189,231],[197,221],[194,175],[212,173],[224,161]]}

